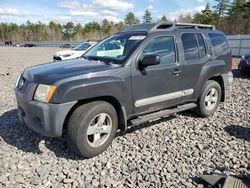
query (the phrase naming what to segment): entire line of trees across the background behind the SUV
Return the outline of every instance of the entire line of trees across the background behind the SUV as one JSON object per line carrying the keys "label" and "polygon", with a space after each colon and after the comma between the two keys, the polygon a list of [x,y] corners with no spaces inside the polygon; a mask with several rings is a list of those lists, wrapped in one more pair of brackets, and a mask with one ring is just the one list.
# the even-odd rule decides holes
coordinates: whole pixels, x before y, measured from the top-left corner
{"label": "entire line of trees across the background behind the SUV", "polygon": [[[216,5],[206,8],[194,15],[181,15],[176,21],[200,24],[212,24],[226,34],[250,34],[250,7],[245,0],[215,0]],[[68,22],[60,24],[50,22],[17,25],[15,23],[0,23],[0,41],[61,41],[61,40],[100,40],[114,34],[126,25],[151,23],[155,21],[168,21],[163,15],[153,20],[149,10],[145,10],[142,20],[133,12],[129,12],[124,21],[114,23],[104,19],[101,23],[89,22],[85,25]]]}

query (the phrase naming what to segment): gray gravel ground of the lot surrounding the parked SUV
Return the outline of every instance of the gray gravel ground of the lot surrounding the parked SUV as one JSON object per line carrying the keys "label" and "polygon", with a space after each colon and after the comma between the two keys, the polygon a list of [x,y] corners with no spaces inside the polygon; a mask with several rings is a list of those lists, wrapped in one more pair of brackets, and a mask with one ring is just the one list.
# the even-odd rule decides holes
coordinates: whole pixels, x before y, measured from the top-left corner
{"label": "gray gravel ground of the lot surrounding the parked SUV", "polygon": [[144,124],[82,159],[64,139],[38,135],[17,119],[16,78],[25,67],[51,61],[55,51],[0,48],[0,187],[202,188],[199,174],[250,175],[250,78],[238,70],[233,93],[213,117],[188,111]]}

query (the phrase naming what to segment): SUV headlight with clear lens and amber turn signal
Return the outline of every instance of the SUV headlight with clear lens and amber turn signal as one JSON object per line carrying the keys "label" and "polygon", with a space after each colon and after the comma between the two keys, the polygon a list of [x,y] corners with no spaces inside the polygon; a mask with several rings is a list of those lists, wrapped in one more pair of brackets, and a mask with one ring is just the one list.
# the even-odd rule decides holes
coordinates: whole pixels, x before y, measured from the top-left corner
{"label": "SUV headlight with clear lens and amber turn signal", "polygon": [[49,103],[51,97],[56,90],[56,86],[39,84],[36,88],[34,99],[40,102]]}

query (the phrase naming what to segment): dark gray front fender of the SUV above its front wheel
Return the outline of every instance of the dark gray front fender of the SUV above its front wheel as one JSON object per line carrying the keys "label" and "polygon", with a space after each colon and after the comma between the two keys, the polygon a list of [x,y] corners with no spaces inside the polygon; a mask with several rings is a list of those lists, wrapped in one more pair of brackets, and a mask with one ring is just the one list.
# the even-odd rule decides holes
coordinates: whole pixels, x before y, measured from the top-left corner
{"label": "dark gray front fender of the SUV above its front wheel", "polygon": [[118,70],[90,73],[60,80],[55,84],[57,90],[51,102],[61,104],[100,97],[113,97],[124,107],[126,115],[128,115],[133,106],[131,105],[130,67],[122,67],[118,72],[115,71]]}

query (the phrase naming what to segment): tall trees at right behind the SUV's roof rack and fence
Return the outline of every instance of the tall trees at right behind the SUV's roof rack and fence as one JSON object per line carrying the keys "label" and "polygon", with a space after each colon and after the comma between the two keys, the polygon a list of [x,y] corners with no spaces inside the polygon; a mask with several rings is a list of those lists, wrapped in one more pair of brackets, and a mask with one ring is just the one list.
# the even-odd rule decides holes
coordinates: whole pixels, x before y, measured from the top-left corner
{"label": "tall trees at right behind the SUV's roof rack and fence", "polygon": [[180,22],[215,25],[227,35],[250,34],[250,4],[245,0],[215,0],[216,5],[208,3],[201,13],[194,16],[182,15]]}

